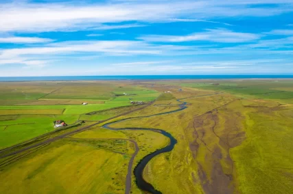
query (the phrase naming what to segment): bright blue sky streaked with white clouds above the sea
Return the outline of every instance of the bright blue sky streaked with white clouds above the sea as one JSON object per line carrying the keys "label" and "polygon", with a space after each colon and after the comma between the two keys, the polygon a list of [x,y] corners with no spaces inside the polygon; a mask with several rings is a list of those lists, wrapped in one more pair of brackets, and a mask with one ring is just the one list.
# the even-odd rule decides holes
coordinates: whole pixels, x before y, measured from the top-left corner
{"label": "bright blue sky streaked with white clouds above the sea", "polygon": [[0,77],[293,74],[293,0],[0,1]]}

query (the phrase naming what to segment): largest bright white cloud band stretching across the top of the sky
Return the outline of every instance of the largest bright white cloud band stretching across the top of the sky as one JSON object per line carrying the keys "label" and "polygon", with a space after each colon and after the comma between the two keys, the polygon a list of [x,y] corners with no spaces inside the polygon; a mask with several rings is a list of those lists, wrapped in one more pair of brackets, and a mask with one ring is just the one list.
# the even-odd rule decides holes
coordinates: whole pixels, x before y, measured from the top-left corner
{"label": "largest bright white cloud band stretching across the top of the sky", "polygon": [[[276,6],[263,6],[268,3]],[[268,0],[114,1],[78,6],[72,3],[1,3],[0,31],[73,31],[95,27],[110,29],[101,25],[125,21],[162,22],[168,18],[185,19],[186,16],[194,20],[224,16],[272,16],[292,12],[292,4],[292,1]]]}

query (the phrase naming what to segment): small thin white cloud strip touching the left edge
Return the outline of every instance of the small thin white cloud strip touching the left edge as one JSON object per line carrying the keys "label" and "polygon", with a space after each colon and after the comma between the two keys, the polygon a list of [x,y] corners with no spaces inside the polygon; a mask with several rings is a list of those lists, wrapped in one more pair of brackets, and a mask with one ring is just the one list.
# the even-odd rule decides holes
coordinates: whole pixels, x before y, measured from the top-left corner
{"label": "small thin white cloud strip touching the left edge", "polygon": [[36,37],[17,37],[17,36],[10,36],[10,37],[0,37],[0,43],[44,43],[44,42],[51,42],[53,40],[49,38],[36,38]]}

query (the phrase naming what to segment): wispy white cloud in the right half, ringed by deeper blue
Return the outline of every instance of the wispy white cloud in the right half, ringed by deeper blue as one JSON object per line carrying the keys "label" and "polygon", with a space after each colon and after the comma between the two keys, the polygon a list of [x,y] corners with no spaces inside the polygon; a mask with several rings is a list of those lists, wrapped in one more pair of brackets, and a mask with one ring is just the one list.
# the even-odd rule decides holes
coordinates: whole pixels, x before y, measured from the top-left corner
{"label": "wispy white cloud in the right half, ringed by deeper blue", "polygon": [[208,29],[207,31],[193,33],[187,36],[148,35],[142,36],[139,39],[148,42],[250,42],[259,38],[259,35],[253,33],[234,32],[228,29]]}

